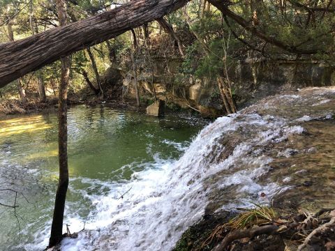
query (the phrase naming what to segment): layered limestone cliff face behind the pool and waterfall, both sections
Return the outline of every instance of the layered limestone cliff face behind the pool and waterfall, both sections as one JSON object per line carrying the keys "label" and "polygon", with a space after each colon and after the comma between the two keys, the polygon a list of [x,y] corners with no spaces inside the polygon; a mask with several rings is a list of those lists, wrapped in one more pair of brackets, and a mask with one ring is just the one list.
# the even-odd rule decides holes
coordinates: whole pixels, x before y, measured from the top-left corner
{"label": "layered limestone cliff face behind the pool and waterfall, both sections", "polygon": [[[138,67],[137,81],[142,98],[154,100],[157,96],[167,104],[193,107],[206,116],[225,113],[215,79],[197,79],[191,75],[187,81],[181,82],[177,75],[182,59],[153,60],[149,70],[146,66]],[[335,70],[325,63],[308,60],[246,59],[230,70],[230,79],[234,100],[241,108],[285,90],[335,85]],[[135,98],[133,84],[132,70],[126,68],[124,96]]]}

